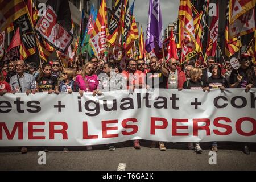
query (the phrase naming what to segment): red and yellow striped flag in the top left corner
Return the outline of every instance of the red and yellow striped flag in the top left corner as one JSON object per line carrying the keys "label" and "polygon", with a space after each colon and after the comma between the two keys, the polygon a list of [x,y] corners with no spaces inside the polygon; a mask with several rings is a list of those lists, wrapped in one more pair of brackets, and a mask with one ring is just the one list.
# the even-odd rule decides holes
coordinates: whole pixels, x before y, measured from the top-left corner
{"label": "red and yellow striped flag in the top left corner", "polygon": [[27,9],[23,0],[0,0],[0,32],[25,13]]}

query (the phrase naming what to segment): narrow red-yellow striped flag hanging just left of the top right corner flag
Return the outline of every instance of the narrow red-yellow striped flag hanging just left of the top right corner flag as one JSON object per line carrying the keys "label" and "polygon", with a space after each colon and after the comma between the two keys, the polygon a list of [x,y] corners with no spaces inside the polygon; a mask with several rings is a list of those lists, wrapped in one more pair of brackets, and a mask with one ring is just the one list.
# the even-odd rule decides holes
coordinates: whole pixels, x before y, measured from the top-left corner
{"label": "narrow red-yellow striped flag hanging just left of the top right corner flag", "polygon": [[226,27],[225,27],[225,55],[227,57],[234,55],[234,53],[239,51],[241,46],[240,40],[238,40],[237,38],[233,38],[229,40],[229,32],[228,32],[229,18],[230,18],[229,2],[230,0],[228,1],[227,10],[226,10]]}

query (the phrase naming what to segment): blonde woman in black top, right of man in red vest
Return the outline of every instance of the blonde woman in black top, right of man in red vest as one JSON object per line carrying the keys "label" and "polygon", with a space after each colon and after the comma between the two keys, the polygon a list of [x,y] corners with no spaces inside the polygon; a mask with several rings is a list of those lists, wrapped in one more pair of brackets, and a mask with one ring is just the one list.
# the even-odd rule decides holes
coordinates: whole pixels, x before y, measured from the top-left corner
{"label": "blonde woman in black top, right of man in red vest", "polygon": [[[202,76],[202,69],[199,67],[191,68],[189,76],[190,79],[185,81],[183,84],[183,89],[203,89],[203,91],[210,91],[207,83],[201,81],[201,76]],[[179,89],[181,90],[181,89]],[[188,143],[188,149],[193,150],[194,146],[192,142]],[[196,142],[195,144],[195,152],[201,153],[203,150],[200,147],[199,142]]]}

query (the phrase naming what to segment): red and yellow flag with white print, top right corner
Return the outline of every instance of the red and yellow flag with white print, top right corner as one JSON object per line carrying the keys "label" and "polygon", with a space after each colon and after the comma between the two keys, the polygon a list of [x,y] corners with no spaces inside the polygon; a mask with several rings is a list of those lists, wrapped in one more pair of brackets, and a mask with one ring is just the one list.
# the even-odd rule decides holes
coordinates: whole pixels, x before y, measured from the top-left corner
{"label": "red and yellow flag with white print, top right corner", "polygon": [[230,8],[229,39],[255,31],[256,0],[232,0]]}

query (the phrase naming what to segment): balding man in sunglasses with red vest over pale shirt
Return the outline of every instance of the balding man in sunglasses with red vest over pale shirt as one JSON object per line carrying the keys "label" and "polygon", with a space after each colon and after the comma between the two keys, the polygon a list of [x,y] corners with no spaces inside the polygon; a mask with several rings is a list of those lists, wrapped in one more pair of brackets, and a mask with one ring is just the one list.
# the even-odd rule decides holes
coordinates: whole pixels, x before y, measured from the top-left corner
{"label": "balding man in sunglasses with red vest over pale shirt", "polygon": [[183,84],[187,81],[185,73],[181,71],[178,67],[179,63],[175,58],[170,58],[168,60],[168,68],[170,71],[168,77],[168,88],[169,89],[179,89],[183,88]]}

